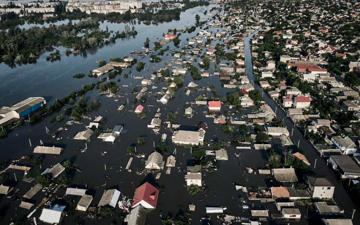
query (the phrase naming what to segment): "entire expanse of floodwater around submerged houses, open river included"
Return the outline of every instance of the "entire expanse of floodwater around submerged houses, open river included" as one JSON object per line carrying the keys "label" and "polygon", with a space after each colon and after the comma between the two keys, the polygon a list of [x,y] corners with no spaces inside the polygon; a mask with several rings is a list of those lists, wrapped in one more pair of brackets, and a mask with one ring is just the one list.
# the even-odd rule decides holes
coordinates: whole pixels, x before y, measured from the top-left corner
{"label": "entire expanse of floodwater around submerged houses, open river included", "polygon": [[[8,105],[12,102],[18,102],[19,100],[26,99],[30,96],[43,96],[51,104],[56,98],[63,98],[72,90],[78,90],[81,88],[82,84],[89,82],[94,83],[98,78],[89,78],[84,77],[81,79],[72,78],[72,74],[77,72],[87,72],[90,69],[97,67],[95,64],[96,60],[105,59],[109,57],[122,57],[124,54],[130,55],[130,51],[141,50],[143,42],[146,37],[150,38],[150,41],[156,41],[157,38],[161,38],[162,33],[166,33],[168,28],[185,28],[194,23],[195,14],[201,15],[202,19],[207,19],[203,15],[204,10],[209,10],[213,5],[207,7],[197,7],[190,9],[185,13],[181,14],[180,21],[174,21],[171,23],[159,24],[159,26],[143,26],[143,24],[135,25],[138,35],[135,38],[117,40],[115,44],[104,46],[103,48],[94,48],[86,50],[86,54],[82,53],[77,56],[70,55],[67,57],[64,54],[65,48],[58,48],[62,53],[61,61],[48,62],[45,60],[46,55],[49,53],[42,54],[41,57],[37,60],[35,65],[26,64],[26,65],[16,65],[11,68],[4,64],[4,71],[1,76],[1,90],[5,96],[0,97],[0,103],[2,105]],[[186,23],[188,22],[188,23]],[[110,27],[113,25],[115,27]],[[109,30],[115,30],[117,27],[123,29],[123,24],[108,24]],[[220,28],[211,28],[210,30],[215,32]],[[200,31],[200,28],[193,33],[183,33],[180,36],[182,40],[181,43],[184,45],[186,37],[192,37],[197,32]],[[246,49],[246,64],[247,64],[247,73],[250,79],[252,77],[252,68],[251,66],[251,52],[249,47],[248,40],[252,35],[246,37],[245,49]],[[215,45],[219,41],[213,41],[212,45]],[[175,46],[172,42],[168,43],[170,48],[175,49]],[[171,59],[171,57],[162,56],[165,61]],[[149,57],[141,59],[143,62],[148,63]],[[198,59],[199,62],[199,59]],[[167,62],[162,63],[149,63],[145,66],[143,71],[136,71],[135,68],[132,68],[133,76],[143,75],[145,78],[149,78],[152,71],[159,68],[165,67]],[[219,70],[219,67],[215,68],[211,66],[210,74],[212,74],[215,69]],[[176,91],[176,96],[171,99],[167,105],[160,104],[156,102],[156,98],[152,97],[153,94],[147,97],[147,102],[143,103],[144,112],[147,114],[147,117],[144,120],[141,120],[136,116],[135,113],[130,112],[135,109],[139,104],[126,104],[125,109],[128,112],[119,113],[117,108],[120,104],[127,99],[134,99],[136,95],[126,94],[129,93],[133,85],[140,85],[140,79],[134,79],[130,77],[125,79],[122,77],[124,73],[129,73],[130,69],[126,69],[122,72],[121,75],[118,75],[114,81],[118,78],[121,79],[121,82],[117,82],[118,86],[121,87],[121,90],[124,91],[124,98],[120,98],[118,101],[115,101],[116,98],[108,98],[104,95],[99,95],[98,90],[87,93],[86,99],[90,103],[93,99],[97,99],[101,102],[99,109],[89,113],[91,120],[84,119],[84,124],[89,124],[96,116],[102,115],[104,118],[107,118],[106,125],[102,126],[102,129],[113,128],[115,125],[123,125],[124,129],[127,129],[127,134],[121,134],[114,143],[102,142],[100,139],[97,139],[95,135],[91,137],[91,141],[85,145],[85,142],[73,140],[74,134],[84,130],[84,124],[75,124],[68,128],[68,130],[60,131],[56,138],[52,138],[50,134],[58,130],[64,125],[66,121],[69,121],[69,118],[66,117],[62,122],[49,123],[49,118],[57,116],[60,113],[63,113],[64,109],[54,112],[51,116],[47,116],[41,120],[38,124],[30,126],[28,123],[25,123],[22,126],[16,127],[14,130],[10,131],[8,137],[5,139],[0,139],[0,159],[4,161],[5,159],[12,161],[20,159],[25,154],[32,154],[33,148],[37,145],[40,145],[42,141],[46,146],[58,146],[63,147],[64,151],[58,156],[53,155],[41,155],[35,154],[34,157],[42,156],[44,158],[44,163],[41,165],[42,169],[50,168],[52,165],[60,162],[63,163],[66,160],[70,160],[75,163],[82,172],[78,171],[66,171],[72,176],[72,187],[79,188],[88,188],[87,194],[93,195],[94,199],[91,203],[91,206],[96,206],[101,198],[104,190],[116,188],[120,190],[121,194],[132,198],[135,188],[144,183],[145,181],[150,182],[153,185],[164,185],[165,193],[159,194],[157,208],[154,210],[149,210],[147,215],[146,224],[158,225],[161,224],[161,216],[172,214],[184,215],[187,219],[192,219],[192,224],[219,224],[216,219],[215,214],[206,214],[206,206],[221,206],[226,207],[225,213],[229,215],[240,216],[244,218],[252,218],[249,210],[244,210],[242,204],[251,205],[265,205],[270,213],[279,213],[275,210],[273,203],[260,203],[260,201],[251,201],[246,203],[240,203],[237,199],[243,197],[248,199],[246,193],[242,193],[240,190],[235,190],[234,184],[242,185],[248,187],[249,192],[254,190],[256,186],[267,186],[272,180],[266,175],[259,174],[249,174],[248,181],[244,179],[241,175],[246,167],[251,167],[256,169],[257,167],[264,167],[267,162],[267,155],[264,150],[237,150],[233,147],[228,146],[227,142],[231,141],[231,136],[237,132],[230,132],[229,134],[224,133],[221,130],[221,126],[213,123],[212,118],[207,118],[204,116],[204,111],[206,111],[205,106],[194,106],[194,116],[189,119],[183,116],[184,110],[183,106],[191,105],[190,102],[194,100],[199,94],[208,94],[207,96],[212,96],[208,91],[196,91],[192,92],[190,96],[185,95],[184,88],[189,84],[189,82],[194,81],[190,75],[184,78],[184,85],[179,85],[179,89]],[[5,74],[5,75],[4,75]],[[4,80],[3,80],[4,79]],[[15,83],[16,82],[16,83]],[[215,86],[215,89],[220,96],[226,95],[229,92],[235,91],[231,89],[224,89],[221,87],[221,82],[217,76],[211,76],[210,78],[202,78],[201,80],[194,81],[196,84],[199,84],[199,87],[207,87],[210,85]],[[122,85],[129,85],[129,87],[122,87]],[[164,83],[155,84],[157,89],[152,90],[160,91]],[[11,87],[10,87],[11,86]],[[256,85],[255,85],[256,86]],[[16,87],[16,88],[14,88]],[[119,93],[120,94],[120,91]],[[265,97],[265,95],[264,95]],[[157,97],[159,99],[159,96]],[[266,99],[268,101],[268,99]],[[205,134],[205,139],[208,141],[221,140],[224,141],[224,147],[228,150],[229,160],[226,162],[221,162],[221,166],[213,174],[209,174],[206,171],[203,171],[202,179],[205,182],[205,185],[208,186],[211,190],[211,193],[207,197],[204,195],[198,194],[191,196],[187,193],[184,175],[186,171],[186,166],[193,164],[190,149],[175,147],[171,143],[171,130],[162,129],[160,134],[154,134],[150,129],[147,129],[147,125],[150,124],[150,121],[153,118],[153,115],[157,111],[158,107],[161,109],[162,123],[166,119],[166,114],[168,112],[178,112],[178,116],[174,118],[173,123],[181,124],[181,129],[183,130],[196,130],[195,125],[199,122],[206,122],[208,125],[207,132]],[[71,106],[67,106],[71,107]],[[233,109],[223,106],[222,112],[227,110],[231,113],[235,113],[234,117],[242,117],[246,113],[251,113],[251,109],[246,109],[242,112],[236,112]],[[278,111],[279,112],[279,111]],[[165,124],[166,125],[166,124]],[[46,133],[46,128],[49,129],[49,133]],[[238,128],[238,125],[235,125],[235,129]],[[253,131],[252,131],[253,132]],[[144,168],[144,162],[140,158],[134,158],[131,163],[130,170],[131,172],[125,171],[126,164],[130,158],[126,154],[126,148],[130,144],[136,144],[136,139],[139,136],[147,136],[148,142],[144,145],[137,145],[136,149],[139,153],[145,153],[145,159],[153,152],[154,145],[158,143],[161,139],[161,134],[167,134],[167,143],[169,148],[167,152],[163,152],[164,159],[166,161],[167,156],[172,154],[176,148],[176,167],[171,169],[170,175],[164,175],[162,180],[155,180],[154,177],[156,174],[144,174],[137,175],[136,171],[141,171]],[[57,138],[62,138],[57,140]],[[30,146],[30,143],[31,146]],[[281,148],[278,140],[272,142],[276,148]],[[86,152],[77,151],[78,148],[85,148],[87,146]],[[210,149],[206,147],[206,149]],[[102,156],[100,152],[105,151],[106,154]],[[234,157],[234,153],[240,153],[240,157]],[[319,163],[319,162],[318,162]],[[33,168],[40,169],[40,166],[34,165],[33,162],[26,159],[18,162],[21,165],[29,165]],[[110,167],[114,166],[115,168],[111,169]],[[105,170],[106,168],[106,170]],[[318,168],[318,167],[316,167]],[[9,170],[9,178],[3,181],[4,185],[14,186],[14,190],[20,189],[19,192],[12,196],[11,198],[1,197],[0,198],[0,216],[3,216],[2,224],[9,224],[14,220],[19,220],[26,217],[41,199],[45,196],[47,192],[39,192],[33,197],[31,201],[35,203],[30,210],[25,210],[19,208],[21,203],[21,196],[24,195],[34,184],[26,183],[22,181],[23,173],[21,171]],[[62,173],[64,174],[64,172]],[[16,176],[16,178],[15,178]],[[17,181],[15,181],[17,180]],[[131,181],[134,182],[134,185],[131,184]],[[66,191],[66,188],[60,188],[56,193],[53,193],[54,190],[51,190],[51,194],[55,196],[63,196]],[[54,199],[54,198],[53,198]],[[80,197],[67,196],[62,200],[54,200],[54,203],[64,204],[67,200],[73,200],[74,203],[69,208],[75,208],[76,204],[80,200]],[[199,201],[202,200],[202,201]],[[190,216],[185,215],[186,208],[188,204],[194,203],[196,205],[195,212]],[[16,210],[14,210],[16,208]],[[305,207],[300,207],[303,215],[306,212]],[[105,219],[96,219],[91,220],[86,218],[86,213],[76,211],[75,215],[67,216],[62,220],[63,224],[78,224],[72,220],[73,217],[81,217],[80,224],[110,224],[116,220],[117,215],[121,213],[119,207],[116,207],[116,215],[113,215]],[[39,224],[39,216],[41,214],[41,208],[36,210],[35,213],[31,216],[37,219]],[[210,218],[209,220],[203,220],[202,218]],[[319,221],[319,218],[315,215],[311,217],[310,220],[304,219],[300,222],[294,224],[307,224],[307,223],[316,223]],[[115,221],[116,222],[116,221]],[[279,221],[277,221],[279,222]],[[28,222],[30,224],[30,222]],[[283,222],[282,222],[283,223]],[[120,224],[120,223],[118,223]],[[277,224],[276,221],[269,221],[269,224]]]}

